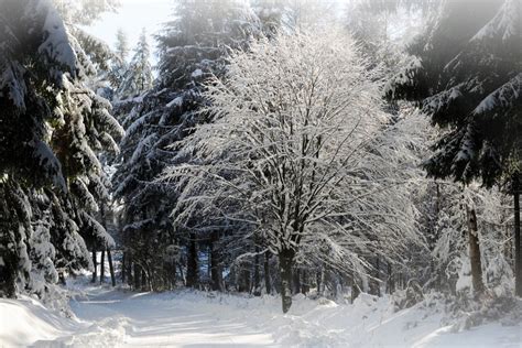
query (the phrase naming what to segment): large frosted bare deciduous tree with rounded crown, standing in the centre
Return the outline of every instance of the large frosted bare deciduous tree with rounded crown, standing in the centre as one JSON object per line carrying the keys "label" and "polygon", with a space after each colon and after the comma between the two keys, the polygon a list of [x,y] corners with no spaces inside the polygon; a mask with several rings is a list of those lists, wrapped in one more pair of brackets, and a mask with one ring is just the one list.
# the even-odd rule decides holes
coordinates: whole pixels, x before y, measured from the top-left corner
{"label": "large frosted bare deciduous tree with rounded crown, standing in the centre", "polygon": [[300,259],[358,278],[366,255],[390,247],[383,254],[393,258],[400,240],[416,239],[398,185],[407,161],[393,155],[403,146],[387,127],[379,72],[354,41],[282,34],[229,59],[225,78],[207,84],[211,122],[180,144],[187,163],[163,174],[182,193],[175,226],[198,209],[254,226],[279,257],[283,312]]}

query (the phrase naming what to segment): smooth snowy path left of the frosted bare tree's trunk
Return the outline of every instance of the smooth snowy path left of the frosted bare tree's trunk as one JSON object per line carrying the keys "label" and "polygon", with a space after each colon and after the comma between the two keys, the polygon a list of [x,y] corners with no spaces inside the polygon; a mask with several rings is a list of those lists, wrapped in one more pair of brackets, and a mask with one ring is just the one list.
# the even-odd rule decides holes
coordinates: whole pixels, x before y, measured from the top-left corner
{"label": "smooth snowy path left of the frosted bare tree's trunk", "polygon": [[[134,294],[107,290],[90,293],[87,298],[72,303],[85,327],[57,341],[75,347],[274,345],[270,334],[248,325],[241,316],[227,318],[222,305],[205,302],[202,296],[177,297],[173,298],[172,293]],[[248,316],[247,312],[243,314]],[[41,346],[53,346],[53,342],[36,344],[36,347]]]}

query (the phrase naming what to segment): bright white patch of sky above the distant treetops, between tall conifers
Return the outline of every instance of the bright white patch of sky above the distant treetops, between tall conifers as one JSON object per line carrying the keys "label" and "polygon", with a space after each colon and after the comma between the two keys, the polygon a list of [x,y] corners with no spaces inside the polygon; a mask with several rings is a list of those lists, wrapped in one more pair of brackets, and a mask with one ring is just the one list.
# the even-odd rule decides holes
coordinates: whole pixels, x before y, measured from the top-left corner
{"label": "bright white patch of sky above the distant treetops, between tall conifers", "polygon": [[[116,32],[121,28],[129,37],[130,48],[133,50],[142,29],[145,28],[149,43],[154,47],[152,36],[162,29],[162,23],[170,20],[174,3],[174,0],[121,0],[118,12],[104,13],[101,19],[86,28],[86,31],[115,47]],[[157,62],[154,52],[151,52],[151,62]]]}

